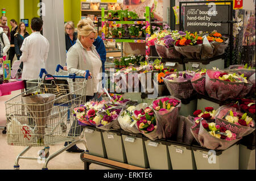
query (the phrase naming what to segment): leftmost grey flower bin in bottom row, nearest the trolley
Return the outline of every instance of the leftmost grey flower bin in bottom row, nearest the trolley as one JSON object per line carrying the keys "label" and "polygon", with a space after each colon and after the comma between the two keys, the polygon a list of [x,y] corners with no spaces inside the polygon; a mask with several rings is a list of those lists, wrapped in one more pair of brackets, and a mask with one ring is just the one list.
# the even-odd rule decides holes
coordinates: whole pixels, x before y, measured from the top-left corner
{"label": "leftmost grey flower bin in bottom row, nearest the trolley", "polygon": [[89,153],[98,157],[106,158],[106,148],[101,129],[87,125],[84,128],[84,134]]}

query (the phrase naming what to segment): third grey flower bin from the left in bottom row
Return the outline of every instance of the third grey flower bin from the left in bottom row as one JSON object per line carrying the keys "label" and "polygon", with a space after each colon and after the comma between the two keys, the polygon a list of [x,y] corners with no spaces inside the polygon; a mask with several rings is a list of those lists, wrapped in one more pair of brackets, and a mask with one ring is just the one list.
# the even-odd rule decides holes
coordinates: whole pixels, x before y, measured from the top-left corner
{"label": "third grey flower bin from the left in bottom row", "polygon": [[129,133],[121,130],[127,163],[134,166],[148,168],[147,151],[142,139],[143,134]]}

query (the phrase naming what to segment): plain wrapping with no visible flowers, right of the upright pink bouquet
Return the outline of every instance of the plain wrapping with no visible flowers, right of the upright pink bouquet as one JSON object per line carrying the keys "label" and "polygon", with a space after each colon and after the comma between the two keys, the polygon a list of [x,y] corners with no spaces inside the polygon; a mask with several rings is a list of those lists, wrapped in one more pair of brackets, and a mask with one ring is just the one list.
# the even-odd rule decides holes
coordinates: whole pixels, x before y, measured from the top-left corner
{"label": "plain wrapping with no visible flowers, right of the upright pink bouquet", "polygon": [[193,117],[179,115],[177,117],[177,124],[177,141],[190,145],[194,140],[193,134],[190,131],[190,128],[195,124]]}

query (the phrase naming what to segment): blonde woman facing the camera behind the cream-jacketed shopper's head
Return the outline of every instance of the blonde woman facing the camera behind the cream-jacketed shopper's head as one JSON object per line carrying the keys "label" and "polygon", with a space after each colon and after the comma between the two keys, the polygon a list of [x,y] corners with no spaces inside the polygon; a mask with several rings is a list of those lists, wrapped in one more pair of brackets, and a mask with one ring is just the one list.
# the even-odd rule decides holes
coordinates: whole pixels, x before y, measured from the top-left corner
{"label": "blonde woman facing the camera behind the cream-jacketed shopper's head", "polygon": [[75,32],[75,26],[73,22],[65,23],[65,42],[66,42],[66,52],[76,44],[77,32]]}

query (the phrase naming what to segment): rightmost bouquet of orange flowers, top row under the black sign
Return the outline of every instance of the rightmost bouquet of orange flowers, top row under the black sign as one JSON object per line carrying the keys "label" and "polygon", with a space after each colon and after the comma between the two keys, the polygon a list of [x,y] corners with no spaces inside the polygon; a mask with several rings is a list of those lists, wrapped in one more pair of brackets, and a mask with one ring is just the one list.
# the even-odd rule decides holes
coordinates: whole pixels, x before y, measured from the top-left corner
{"label": "rightmost bouquet of orange flowers, top row under the black sign", "polygon": [[213,47],[213,56],[219,56],[225,53],[225,49],[228,47],[229,38],[222,36],[221,33],[213,31],[207,36],[207,39]]}

